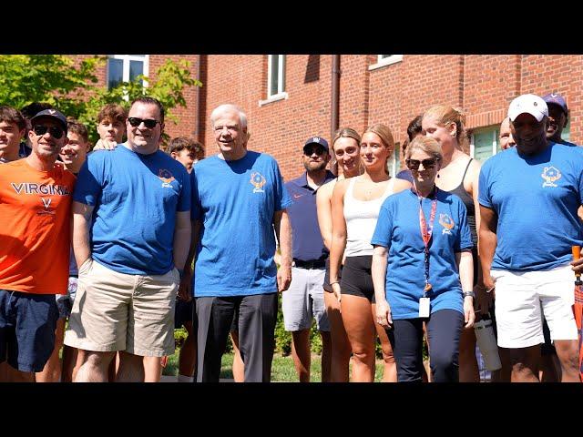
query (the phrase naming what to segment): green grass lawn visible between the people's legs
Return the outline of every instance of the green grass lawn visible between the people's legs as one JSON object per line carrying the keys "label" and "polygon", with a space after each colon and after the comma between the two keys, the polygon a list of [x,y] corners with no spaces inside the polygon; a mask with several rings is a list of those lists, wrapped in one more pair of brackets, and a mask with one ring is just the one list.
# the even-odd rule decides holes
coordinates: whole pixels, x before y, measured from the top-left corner
{"label": "green grass lawn visible between the people's legs", "polygon": [[[169,357],[168,364],[164,369],[165,375],[176,375],[178,373],[178,351]],[[233,355],[231,353],[222,356],[222,364],[220,367],[220,378],[232,379],[233,374],[231,366],[233,362]],[[352,362],[351,362],[352,369]],[[374,381],[379,382],[383,378],[383,361],[376,361],[376,372]],[[273,364],[271,365],[271,381],[273,382],[298,382],[298,375],[293,367],[292,355],[287,357],[281,354],[273,356]],[[312,366],[310,371],[310,381],[322,381],[322,368],[320,355],[312,354]]]}

